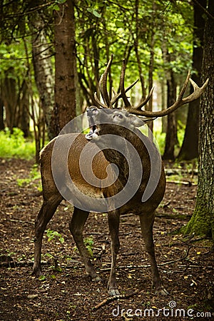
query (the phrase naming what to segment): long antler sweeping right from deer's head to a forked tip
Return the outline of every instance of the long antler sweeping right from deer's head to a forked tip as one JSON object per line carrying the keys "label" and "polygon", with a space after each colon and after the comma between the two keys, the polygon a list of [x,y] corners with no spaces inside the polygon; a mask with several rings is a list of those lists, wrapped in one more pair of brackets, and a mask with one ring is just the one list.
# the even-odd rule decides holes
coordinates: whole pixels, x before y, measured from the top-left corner
{"label": "long antler sweeping right from deer's head to a forked tip", "polygon": [[[183,98],[183,95],[185,93],[185,90],[188,86],[188,81],[193,86],[193,93],[191,93],[189,96]],[[147,116],[147,117],[163,117],[167,116],[169,113],[172,113],[176,109],[178,109],[180,106],[185,105],[185,103],[190,103],[190,101],[195,101],[198,99],[202,93],[205,91],[205,88],[208,86],[208,79],[203,83],[203,86],[198,87],[198,85],[193,81],[193,79],[190,78],[190,71],[188,72],[188,76],[185,79],[185,83],[183,84],[183,88],[181,89],[177,101],[173,103],[172,106],[168,107],[164,111],[139,111],[135,108],[129,108],[128,111],[130,113],[136,114],[138,116]]]}

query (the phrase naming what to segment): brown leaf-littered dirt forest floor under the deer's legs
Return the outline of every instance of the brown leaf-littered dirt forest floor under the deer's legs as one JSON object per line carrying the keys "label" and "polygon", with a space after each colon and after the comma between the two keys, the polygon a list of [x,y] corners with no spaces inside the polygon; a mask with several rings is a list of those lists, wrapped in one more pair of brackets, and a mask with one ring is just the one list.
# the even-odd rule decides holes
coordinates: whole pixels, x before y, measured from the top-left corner
{"label": "brown leaf-littered dirt forest floor under the deer's legs", "polygon": [[68,230],[72,208],[66,202],[49,223],[52,232],[44,235],[45,277],[31,275],[34,219],[42,202],[35,196],[39,179],[28,179],[32,165],[0,159],[0,320],[214,320],[212,243],[193,235],[184,238],[179,232],[193,213],[195,185],[167,183],[156,210],[156,257],[169,295],[161,297],[153,290],[138,217],[125,215],[117,264],[122,296],[109,299],[106,214],[91,213],[84,234],[102,284],[86,276]]}

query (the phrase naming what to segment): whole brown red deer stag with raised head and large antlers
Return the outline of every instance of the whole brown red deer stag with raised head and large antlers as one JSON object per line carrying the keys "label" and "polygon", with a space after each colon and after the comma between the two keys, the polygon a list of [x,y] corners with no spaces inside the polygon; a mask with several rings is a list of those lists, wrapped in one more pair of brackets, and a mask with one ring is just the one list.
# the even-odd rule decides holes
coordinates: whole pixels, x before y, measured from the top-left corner
{"label": "whole brown red deer stag with raised head and large antlers", "polygon": [[[41,243],[46,225],[53,217],[61,200],[66,198],[66,200],[71,200],[71,203],[73,200],[74,205],[69,228],[86,267],[86,272],[92,280],[100,281],[101,277],[96,273],[83,243],[83,227],[89,212],[98,212],[102,209],[108,212],[112,253],[111,273],[108,280],[109,295],[119,295],[116,284],[116,256],[120,248],[118,238],[120,215],[135,213],[140,219],[143,240],[151,263],[153,285],[159,293],[167,295],[168,292],[164,289],[159,276],[153,244],[154,212],[165,193],[165,173],[156,146],[138,130],[138,127],[143,126],[143,123],[148,120],[153,121],[157,117],[168,115],[185,103],[199,98],[205,91],[208,81],[199,88],[190,79],[190,73],[188,73],[178,100],[173,106],[164,111],[144,111],[141,108],[147,103],[152,92],[146,101],[136,107],[131,106],[126,92],[136,82],[128,88],[124,88],[125,62],[123,62],[121,71],[120,93],[115,93],[113,98],[109,98],[106,81],[111,61],[112,57],[99,84],[103,102],[99,101],[95,93],[98,106],[87,108],[90,132],[86,135],[64,133],[54,138],[41,151],[41,180],[44,201],[35,222],[34,273],[37,277],[41,275]],[[188,81],[193,85],[194,91],[190,96],[183,98]],[[122,109],[113,108],[113,104],[119,98],[123,99],[124,107]],[[112,141],[115,143],[115,148],[112,147]],[[81,168],[79,163],[81,153],[83,150],[86,151],[87,146],[90,146],[88,150],[94,155],[93,161],[91,161],[91,172],[93,171],[93,175],[97,179],[95,184],[88,180],[91,173],[88,173],[86,168]],[[133,154],[133,150],[138,154],[138,158]],[[67,154],[66,157],[63,155],[64,151]],[[63,173],[63,163],[65,162],[69,178],[81,195],[86,195],[86,203],[84,203],[84,196],[81,198],[75,188],[73,189],[73,185],[69,185],[67,182],[69,178]],[[86,175],[84,175],[84,171]],[[60,178],[59,181],[56,176]],[[150,185],[149,188],[148,185]],[[133,187],[134,192],[132,193]],[[64,190],[68,192],[66,197]],[[122,195],[118,203],[117,195]],[[91,201],[88,202],[88,198]],[[100,198],[103,203],[98,203]]]}

